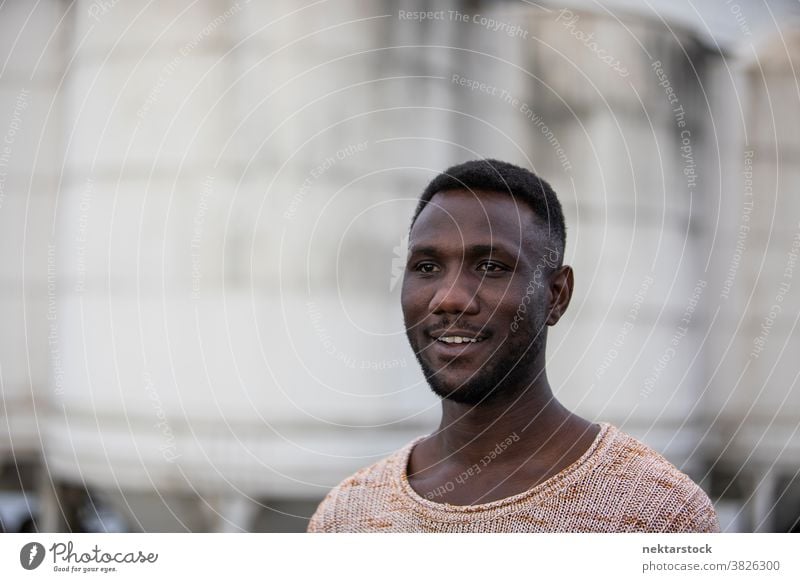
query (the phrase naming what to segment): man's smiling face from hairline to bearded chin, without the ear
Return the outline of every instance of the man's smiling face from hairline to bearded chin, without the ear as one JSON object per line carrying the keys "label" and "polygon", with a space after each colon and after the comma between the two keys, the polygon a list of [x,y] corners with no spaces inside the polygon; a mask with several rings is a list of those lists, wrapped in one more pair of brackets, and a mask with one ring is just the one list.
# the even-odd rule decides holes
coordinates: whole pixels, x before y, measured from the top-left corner
{"label": "man's smiling face from hairline to bearded chin, without the ear", "polygon": [[500,192],[440,192],[420,213],[401,301],[436,394],[478,404],[534,379],[560,263],[546,233],[527,205]]}

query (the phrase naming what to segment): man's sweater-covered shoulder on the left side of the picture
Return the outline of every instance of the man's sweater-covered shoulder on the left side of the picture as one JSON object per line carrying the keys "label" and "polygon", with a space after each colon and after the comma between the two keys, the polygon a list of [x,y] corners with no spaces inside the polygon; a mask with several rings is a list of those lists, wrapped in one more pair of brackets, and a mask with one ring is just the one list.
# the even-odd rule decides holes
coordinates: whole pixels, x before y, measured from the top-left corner
{"label": "man's sweater-covered shoulder on the left side of the picture", "polygon": [[390,456],[360,469],[334,487],[322,500],[308,525],[309,532],[354,531],[364,520],[369,521],[394,495],[398,472],[415,442]]}

